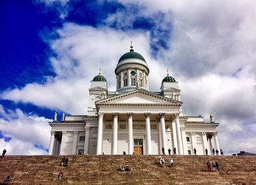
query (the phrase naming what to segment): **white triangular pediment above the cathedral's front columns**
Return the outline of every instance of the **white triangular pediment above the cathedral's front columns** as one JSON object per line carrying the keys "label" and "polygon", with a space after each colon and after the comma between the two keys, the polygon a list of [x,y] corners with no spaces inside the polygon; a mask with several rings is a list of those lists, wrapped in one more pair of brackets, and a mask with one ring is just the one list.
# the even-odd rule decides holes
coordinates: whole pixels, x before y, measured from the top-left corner
{"label": "white triangular pediment above the cathedral's front columns", "polygon": [[181,105],[182,102],[153,94],[149,91],[135,90],[115,97],[101,99],[97,105]]}

